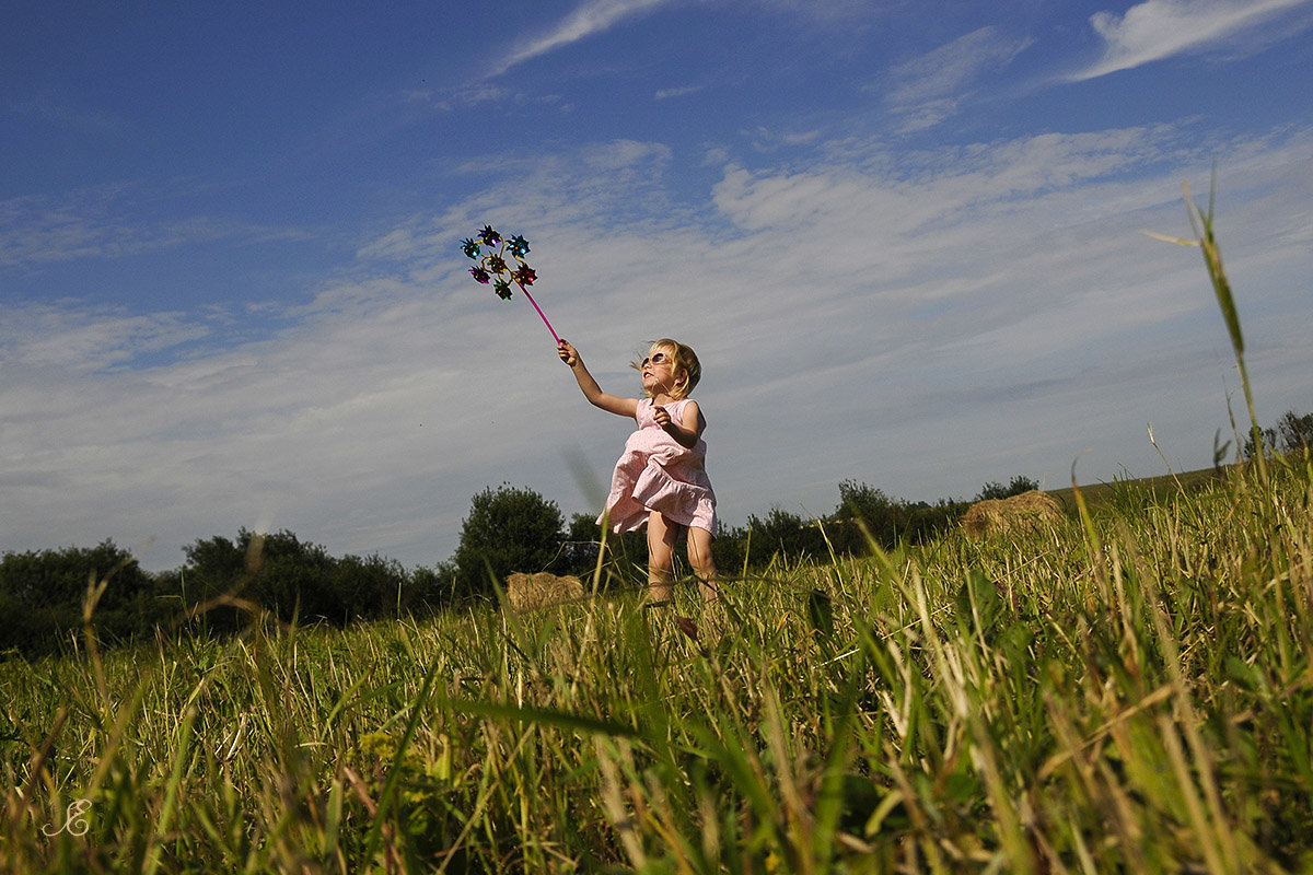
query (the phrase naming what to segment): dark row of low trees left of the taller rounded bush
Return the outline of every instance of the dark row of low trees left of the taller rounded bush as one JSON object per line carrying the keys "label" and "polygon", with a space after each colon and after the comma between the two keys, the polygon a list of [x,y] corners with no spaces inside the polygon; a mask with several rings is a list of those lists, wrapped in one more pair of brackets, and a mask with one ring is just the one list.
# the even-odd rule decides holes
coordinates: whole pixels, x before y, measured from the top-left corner
{"label": "dark row of low trees left of the taller rounded bush", "polygon": [[268,614],[284,623],[344,626],[442,603],[435,569],[407,572],[382,556],[331,556],[290,531],[197,540],[181,568],[151,573],[131,552],[95,547],[7,552],[0,559],[0,659],[80,645],[84,605],[101,644],[156,630],[228,635]]}

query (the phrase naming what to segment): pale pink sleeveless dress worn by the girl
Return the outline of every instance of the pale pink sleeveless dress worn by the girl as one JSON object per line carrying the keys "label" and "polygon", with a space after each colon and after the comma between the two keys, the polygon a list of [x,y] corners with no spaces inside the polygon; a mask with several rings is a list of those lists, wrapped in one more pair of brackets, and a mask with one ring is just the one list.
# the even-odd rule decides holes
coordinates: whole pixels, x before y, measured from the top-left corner
{"label": "pale pink sleeveless dress worn by the girl", "polygon": [[[664,404],[670,418],[680,421],[691,399]],[[699,413],[701,416],[701,413]],[[612,531],[634,531],[659,510],[683,526],[697,526],[716,534],[716,493],[706,476],[706,442],[697,438],[692,449],[680,445],[656,425],[650,397],[638,401],[634,420],[638,430],[625,442],[625,453],[611,478],[607,513]]]}

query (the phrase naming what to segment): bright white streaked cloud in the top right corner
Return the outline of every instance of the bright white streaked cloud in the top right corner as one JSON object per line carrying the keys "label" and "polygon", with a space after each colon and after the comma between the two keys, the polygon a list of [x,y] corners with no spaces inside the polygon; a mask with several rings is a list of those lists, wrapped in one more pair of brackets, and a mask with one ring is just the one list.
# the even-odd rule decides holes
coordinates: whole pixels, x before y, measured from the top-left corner
{"label": "bright white streaked cloud in the top right corner", "polygon": [[1095,79],[1212,49],[1306,4],[1308,0],[1145,0],[1123,16],[1099,12],[1090,16],[1090,25],[1103,38],[1103,56],[1071,80]]}

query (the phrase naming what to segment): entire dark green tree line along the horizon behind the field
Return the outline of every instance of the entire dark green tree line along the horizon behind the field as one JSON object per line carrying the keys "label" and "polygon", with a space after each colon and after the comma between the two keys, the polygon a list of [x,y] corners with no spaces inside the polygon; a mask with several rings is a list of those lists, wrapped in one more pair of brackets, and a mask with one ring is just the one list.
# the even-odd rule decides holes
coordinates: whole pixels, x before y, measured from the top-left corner
{"label": "entire dark green tree line along the horizon behind the field", "polygon": [[[1313,415],[1287,413],[1264,439],[1287,451],[1313,446]],[[972,500],[1037,488],[1027,476],[986,483]],[[760,572],[776,559],[855,556],[924,543],[957,523],[970,501],[907,501],[855,480],[839,484],[830,514],[806,518],[780,508],[723,527],[713,542],[726,575]],[[231,635],[256,617],[282,623],[383,619],[446,610],[494,597],[494,580],[511,572],[550,571],[590,577],[601,565],[608,586],[642,585],[643,533],[609,535],[605,550],[593,518],[569,522],[554,501],[532,489],[488,487],[470,501],[456,552],[432,568],[406,569],[378,555],[332,556],[290,531],[213,537],[184,547],[185,561],[146,572],[112,540],[95,547],[7,552],[0,558],[0,659],[28,659],[77,645],[88,593],[92,624],[104,644],[151,640],[156,631]]]}

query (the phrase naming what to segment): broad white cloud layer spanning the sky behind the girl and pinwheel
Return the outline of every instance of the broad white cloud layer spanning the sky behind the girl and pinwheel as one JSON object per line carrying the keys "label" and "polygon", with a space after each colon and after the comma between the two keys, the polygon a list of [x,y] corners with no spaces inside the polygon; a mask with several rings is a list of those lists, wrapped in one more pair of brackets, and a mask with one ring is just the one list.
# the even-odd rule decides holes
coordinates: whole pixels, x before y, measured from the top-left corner
{"label": "broad white cloud layer spanning the sky behind the girl and pinwheel", "polygon": [[163,344],[192,323],[54,306],[0,336],[0,483],[24,508],[3,547],[155,537],[147,567],[171,567],[264,521],[414,565],[450,556],[486,485],[593,509],[570,459],[604,479],[632,426],[587,405],[528,302],[462,273],[457,241],[511,195],[534,296],[605,388],[635,388],[645,340],[699,350],[730,525],[781,501],[829,513],[848,478],[927,500],[1022,472],[1058,485],[1087,446],[1103,455],[1083,476],[1158,472],[1148,443],[1125,449],[1148,420],[1207,464],[1225,329],[1197,253],[1138,231],[1186,234],[1179,178],[1203,182],[1217,152],[1251,373],[1276,397],[1305,391],[1313,134],[1194,142],[1162,126],[918,155],[847,143],[807,165],[730,164],[676,213],[671,150],[620,140],[399,220],[309,306],[273,314],[289,327],[270,340],[127,369],[102,338]]}

